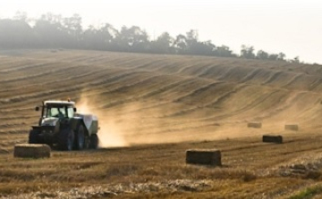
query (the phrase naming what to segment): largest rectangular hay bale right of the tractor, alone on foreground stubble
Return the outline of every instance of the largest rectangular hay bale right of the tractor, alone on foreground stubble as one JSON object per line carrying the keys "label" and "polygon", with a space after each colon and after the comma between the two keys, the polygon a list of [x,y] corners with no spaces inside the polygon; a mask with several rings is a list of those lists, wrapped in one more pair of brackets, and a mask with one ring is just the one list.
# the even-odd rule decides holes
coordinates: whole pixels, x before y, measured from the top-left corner
{"label": "largest rectangular hay bale right of the tractor, alone on foreground stubble", "polygon": [[186,151],[186,163],[221,166],[221,152],[217,149],[189,149]]}

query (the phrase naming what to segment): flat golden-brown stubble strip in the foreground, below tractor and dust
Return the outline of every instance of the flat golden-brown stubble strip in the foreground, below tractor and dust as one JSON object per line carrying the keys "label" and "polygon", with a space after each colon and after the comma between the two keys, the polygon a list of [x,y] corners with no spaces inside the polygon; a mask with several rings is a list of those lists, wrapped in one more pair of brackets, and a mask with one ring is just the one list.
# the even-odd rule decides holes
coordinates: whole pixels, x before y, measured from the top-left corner
{"label": "flat golden-brown stubble strip in the foreground, below tractor and dust", "polygon": [[[260,198],[263,194],[277,198],[320,180],[320,168],[288,177],[276,170],[281,160],[288,165],[299,154],[319,153],[315,147],[322,147],[315,138],[288,138],[307,149],[295,152],[296,142],[267,145],[252,138],[53,152],[52,158],[38,160],[14,159],[11,154],[3,154],[0,193],[57,196],[59,191],[73,198],[72,190],[78,188],[81,195],[89,195],[93,189],[92,193],[103,198],[111,197],[110,192],[118,198]],[[256,142],[258,145],[253,145]],[[186,148],[209,149],[214,145],[223,148],[223,167],[185,163]]]}

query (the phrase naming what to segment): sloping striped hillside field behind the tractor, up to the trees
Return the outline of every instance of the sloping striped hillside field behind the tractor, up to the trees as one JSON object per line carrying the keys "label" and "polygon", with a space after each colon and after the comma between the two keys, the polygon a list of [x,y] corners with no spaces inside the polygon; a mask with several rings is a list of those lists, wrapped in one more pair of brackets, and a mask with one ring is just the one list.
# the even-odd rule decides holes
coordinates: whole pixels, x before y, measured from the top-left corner
{"label": "sloping striped hillside field behind the tractor, up to the trees", "polygon": [[36,104],[67,97],[86,98],[103,123],[131,136],[202,136],[250,120],[312,127],[322,116],[317,65],[93,51],[28,51],[0,61],[2,133],[27,131],[37,123]]}

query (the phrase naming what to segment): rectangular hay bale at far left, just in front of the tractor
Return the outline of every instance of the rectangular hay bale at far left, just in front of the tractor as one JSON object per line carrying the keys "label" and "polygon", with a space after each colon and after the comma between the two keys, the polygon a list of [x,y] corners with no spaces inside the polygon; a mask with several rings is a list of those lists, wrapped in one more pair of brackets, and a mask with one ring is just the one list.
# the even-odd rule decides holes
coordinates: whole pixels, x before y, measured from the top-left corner
{"label": "rectangular hay bale at far left, just in front of the tractor", "polygon": [[21,158],[49,158],[49,145],[19,144],[14,145],[13,156]]}

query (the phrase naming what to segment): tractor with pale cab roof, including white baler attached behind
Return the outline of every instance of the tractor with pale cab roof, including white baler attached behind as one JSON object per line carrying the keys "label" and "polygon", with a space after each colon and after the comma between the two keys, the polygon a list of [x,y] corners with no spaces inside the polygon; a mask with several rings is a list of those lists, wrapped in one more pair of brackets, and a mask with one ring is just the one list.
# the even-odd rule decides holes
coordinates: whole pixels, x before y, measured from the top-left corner
{"label": "tractor with pale cab roof, including white baler attached behind", "polygon": [[97,149],[98,121],[95,115],[76,113],[75,103],[44,101],[38,126],[32,126],[30,144],[47,144],[59,150]]}

